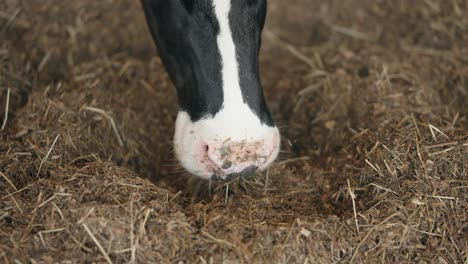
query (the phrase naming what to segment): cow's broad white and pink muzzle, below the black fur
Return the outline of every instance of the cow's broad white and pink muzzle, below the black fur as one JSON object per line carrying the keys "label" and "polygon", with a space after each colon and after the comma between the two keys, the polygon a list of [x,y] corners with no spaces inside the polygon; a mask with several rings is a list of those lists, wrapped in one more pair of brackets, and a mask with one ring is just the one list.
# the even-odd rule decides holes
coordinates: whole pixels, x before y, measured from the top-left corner
{"label": "cow's broad white and pink muzzle, below the black fur", "polygon": [[193,122],[180,111],[174,149],[188,172],[204,179],[226,179],[267,168],[278,156],[280,135],[276,126],[262,124],[249,113],[220,111]]}

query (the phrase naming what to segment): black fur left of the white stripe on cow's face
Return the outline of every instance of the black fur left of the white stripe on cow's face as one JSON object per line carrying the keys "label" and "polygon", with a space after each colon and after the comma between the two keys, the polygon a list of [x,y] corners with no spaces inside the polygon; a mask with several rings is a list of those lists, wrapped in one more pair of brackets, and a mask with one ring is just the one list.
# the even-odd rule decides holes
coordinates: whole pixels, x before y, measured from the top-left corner
{"label": "black fur left of the white stripe on cow's face", "polygon": [[211,1],[142,0],[159,56],[192,121],[223,103],[219,24]]}

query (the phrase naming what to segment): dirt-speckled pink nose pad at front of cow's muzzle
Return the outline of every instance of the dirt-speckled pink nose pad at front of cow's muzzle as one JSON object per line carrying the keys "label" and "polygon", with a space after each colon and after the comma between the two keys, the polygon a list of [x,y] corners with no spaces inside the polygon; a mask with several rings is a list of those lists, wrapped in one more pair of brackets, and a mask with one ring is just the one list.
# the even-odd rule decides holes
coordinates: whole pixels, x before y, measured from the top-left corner
{"label": "dirt-speckled pink nose pad at front of cow's muzzle", "polygon": [[252,174],[263,167],[272,155],[272,147],[262,141],[240,143],[225,142],[220,147],[207,146],[207,155],[216,166],[217,176]]}

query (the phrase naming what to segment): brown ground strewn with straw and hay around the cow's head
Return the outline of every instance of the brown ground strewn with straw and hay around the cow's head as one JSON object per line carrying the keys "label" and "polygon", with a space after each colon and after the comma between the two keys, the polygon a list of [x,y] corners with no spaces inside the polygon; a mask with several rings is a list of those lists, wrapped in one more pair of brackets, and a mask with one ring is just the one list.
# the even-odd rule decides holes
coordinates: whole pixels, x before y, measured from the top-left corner
{"label": "brown ground strewn with straw and hay around the cow's head", "polygon": [[0,262],[468,263],[468,1],[270,0],[263,36],[283,152],[210,183],[138,1],[2,0]]}

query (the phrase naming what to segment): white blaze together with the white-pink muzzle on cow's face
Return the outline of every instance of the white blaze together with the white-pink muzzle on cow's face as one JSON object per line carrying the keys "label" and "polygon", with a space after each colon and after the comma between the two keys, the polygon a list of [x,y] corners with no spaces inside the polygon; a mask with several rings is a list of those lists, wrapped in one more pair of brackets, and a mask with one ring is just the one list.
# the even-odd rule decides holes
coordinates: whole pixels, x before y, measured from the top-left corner
{"label": "white blaze together with the white-pink muzzle on cow's face", "polygon": [[262,123],[244,102],[229,23],[231,1],[213,0],[213,7],[219,24],[223,105],[214,116],[197,121],[179,112],[174,145],[188,171],[204,178],[213,174],[223,178],[251,167],[266,168],[278,155],[280,135],[276,126]]}

